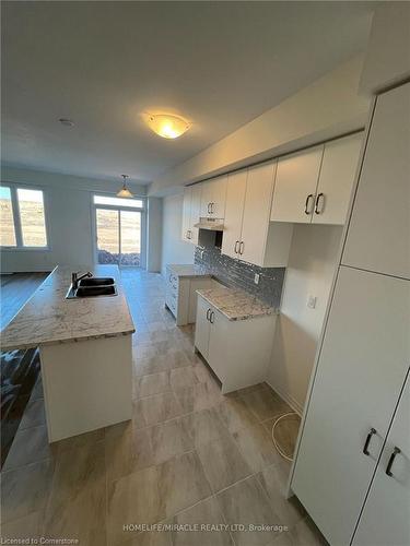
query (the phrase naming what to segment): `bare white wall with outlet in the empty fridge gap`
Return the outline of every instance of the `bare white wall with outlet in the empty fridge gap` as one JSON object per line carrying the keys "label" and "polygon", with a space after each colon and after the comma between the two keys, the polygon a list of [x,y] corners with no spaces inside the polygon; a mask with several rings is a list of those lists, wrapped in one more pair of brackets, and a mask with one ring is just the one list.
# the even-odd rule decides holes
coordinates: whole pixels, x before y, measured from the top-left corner
{"label": "bare white wall with outlet in the empty fridge gap", "polygon": [[[295,225],[268,382],[302,411],[336,271],[341,226]],[[316,308],[307,308],[308,296]]]}

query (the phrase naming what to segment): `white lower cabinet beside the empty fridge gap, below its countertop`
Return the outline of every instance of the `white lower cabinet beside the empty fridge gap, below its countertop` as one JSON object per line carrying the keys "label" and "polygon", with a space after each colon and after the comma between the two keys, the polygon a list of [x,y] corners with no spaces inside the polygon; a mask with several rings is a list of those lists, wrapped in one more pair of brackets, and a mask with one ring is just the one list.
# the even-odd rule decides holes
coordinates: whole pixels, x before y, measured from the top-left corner
{"label": "white lower cabinet beside the empty fridge gap, below its countertop", "polygon": [[222,393],[259,383],[266,378],[276,316],[229,320],[198,295],[195,348],[222,383]]}

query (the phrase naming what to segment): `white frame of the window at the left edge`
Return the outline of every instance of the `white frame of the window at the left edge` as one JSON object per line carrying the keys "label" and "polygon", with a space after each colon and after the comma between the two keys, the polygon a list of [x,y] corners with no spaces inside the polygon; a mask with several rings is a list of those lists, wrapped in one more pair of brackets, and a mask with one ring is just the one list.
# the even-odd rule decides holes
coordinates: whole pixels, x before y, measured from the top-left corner
{"label": "white frame of the window at the left edge", "polygon": [[[30,183],[17,183],[17,182],[9,182],[5,180],[1,181],[1,186],[3,188],[9,188],[10,189],[10,197],[11,197],[11,207],[13,211],[13,223],[14,223],[14,235],[15,235],[15,247],[11,246],[1,246],[0,245],[0,250],[1,252],[49,252],[51,251],[51,245],[50,245],[50,238],[49,238],[49,224],[48,224],[48,195],[44,187],[42,186],[34,186]],[[20,217],[20,203],[19,203],[19,197],[17,197],[17,190],[34,190],[34,191],[40,191],[43,193],[43,209],[44,209],[44,227],[46,230],[46,240],[47,245],[45,247],[32,247],[27,245],[23,245],[23,229],[22,229],[22,222]]]}

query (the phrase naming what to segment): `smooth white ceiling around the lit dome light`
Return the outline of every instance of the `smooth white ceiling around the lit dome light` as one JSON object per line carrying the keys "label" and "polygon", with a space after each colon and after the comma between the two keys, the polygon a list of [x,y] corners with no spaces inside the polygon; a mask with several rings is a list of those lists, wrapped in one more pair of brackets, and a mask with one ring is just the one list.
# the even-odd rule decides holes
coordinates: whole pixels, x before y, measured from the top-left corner
{"label": "smooth white ceiling around the lit dome light", "polygon": [[[373,8],[2,2],[2,161],[148,182],[363,50]],[[160,110],[191,130],[159,138]]]}

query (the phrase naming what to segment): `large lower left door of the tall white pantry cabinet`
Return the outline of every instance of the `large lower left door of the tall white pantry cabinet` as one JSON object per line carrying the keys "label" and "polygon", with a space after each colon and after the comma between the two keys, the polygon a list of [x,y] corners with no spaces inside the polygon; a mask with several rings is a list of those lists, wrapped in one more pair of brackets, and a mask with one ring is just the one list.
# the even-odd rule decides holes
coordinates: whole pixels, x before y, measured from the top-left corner
{"label": "large lower left door of the tall white pantry cabinet", "polygon": [[350,543],[391,422],[409,304],[409,282],[340,268],[291,485],[330,544]]}

